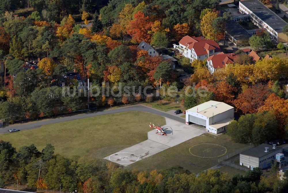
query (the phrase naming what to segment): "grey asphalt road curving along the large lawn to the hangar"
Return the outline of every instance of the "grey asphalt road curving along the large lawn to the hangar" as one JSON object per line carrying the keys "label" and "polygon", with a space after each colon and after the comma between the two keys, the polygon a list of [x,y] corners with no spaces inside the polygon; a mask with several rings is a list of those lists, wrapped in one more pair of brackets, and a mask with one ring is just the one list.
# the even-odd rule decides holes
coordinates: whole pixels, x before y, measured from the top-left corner
{"label": "grey asphalt road curving along the large lawn to the hangar", "polygon": [[19,129],[21,132],[23,130],[35,129],[35,128],[41,127],[42,125],[48,125],[51,123],[59,123],[63,121],[76,120],[76,119],[81,119],[81,118],[106,115],[106,114],[111,114],[111,113],[126,112],[126,111],[143,111],[143,112],[154,113],[154,114],[157,114],[157,115],[160,115],[160,116],[163,116],[163,117],[166,117],[166,118],[169,118],[169,119],[181,122],[181,123],[185,123],[185,119],[181,117],[177,117],[172,114],[168,114],[168,113],[165,113],[165,112],[162,112],[162,111],[150,108],[150,107],[146,107],[144,105],[133,105],[129,107],[122,107],[122,108],[116,108],[116,109],[111,109],[111,110],[77,114],[74,116],[44,119],[44,120],[33,121],[33,122],[28,122],[28,123],[23,123],[23,124],[9,125],[7,127],[0,128],[0,134],[9,133],[9,129]]}

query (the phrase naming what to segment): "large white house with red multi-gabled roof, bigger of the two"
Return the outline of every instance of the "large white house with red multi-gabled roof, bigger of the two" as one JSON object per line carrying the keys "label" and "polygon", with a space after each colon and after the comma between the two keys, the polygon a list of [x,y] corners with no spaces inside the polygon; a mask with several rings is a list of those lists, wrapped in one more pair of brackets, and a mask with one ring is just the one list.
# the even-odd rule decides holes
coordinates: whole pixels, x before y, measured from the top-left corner
{"label": "large white house with red multi-gabled roof, bigger of the two", "polygon": [[202,36],[185,36],[179,41],[179,46],[174,44],[174,48],[178,49],[183,56],[189,58],[191,62],[193,60],[204,60],[221,52],[217,42],[206,40]]}

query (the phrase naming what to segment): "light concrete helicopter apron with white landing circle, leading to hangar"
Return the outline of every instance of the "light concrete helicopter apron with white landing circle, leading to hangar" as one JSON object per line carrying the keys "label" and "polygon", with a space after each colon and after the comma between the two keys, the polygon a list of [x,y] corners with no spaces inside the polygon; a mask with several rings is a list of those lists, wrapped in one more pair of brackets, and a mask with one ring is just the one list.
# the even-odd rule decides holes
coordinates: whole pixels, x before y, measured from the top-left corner
{"label": "light concrete helicopter apron with white landing circle, leading to hangar", "polygon": [[153,129],[153,131],[148,132],[148,140],[113,153],[104,159],[128,166],[205,133],[205,131],[197,129],[196,127],[185,125],[168,118],[166,118],[166,125],[163,127],[168,128],[165,130],[167,136],[160,136],[156,134],[155,129]]}

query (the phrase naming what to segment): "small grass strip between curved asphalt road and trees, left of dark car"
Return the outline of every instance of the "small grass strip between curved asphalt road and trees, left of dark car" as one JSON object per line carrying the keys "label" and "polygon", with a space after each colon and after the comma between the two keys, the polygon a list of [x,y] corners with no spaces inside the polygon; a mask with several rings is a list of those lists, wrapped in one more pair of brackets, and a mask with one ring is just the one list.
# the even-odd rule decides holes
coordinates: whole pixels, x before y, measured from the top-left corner
{"label": "small grass strip between curved asphalt road and trees, left of dark car", "polygon": [[143,105],[146,105],[148,107],[152,107],[155,109],[158,109],[160,111],[170,111],[170,110],[177,110],[181,109],[182,111],[184,110],[184,107],[181,107],[180,103],[175,103],[175,102],[169,102],[169,101],[154,101],[149,103],[142,103]]}

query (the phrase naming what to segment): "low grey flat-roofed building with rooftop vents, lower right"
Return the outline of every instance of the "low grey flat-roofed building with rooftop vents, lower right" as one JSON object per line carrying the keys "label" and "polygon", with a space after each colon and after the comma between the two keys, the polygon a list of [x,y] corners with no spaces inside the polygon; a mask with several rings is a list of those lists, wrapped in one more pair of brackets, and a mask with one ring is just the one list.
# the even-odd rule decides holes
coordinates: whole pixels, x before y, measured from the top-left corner
{"label": "low grey flat-roofed building with rooftop vents, lower right", "polygon": [[268,168],[272,165],[275,155],[282,153],[282,150],[282,147],[260,144],[240,153],[240,165],[251,169]]}

